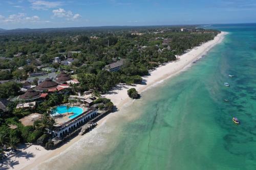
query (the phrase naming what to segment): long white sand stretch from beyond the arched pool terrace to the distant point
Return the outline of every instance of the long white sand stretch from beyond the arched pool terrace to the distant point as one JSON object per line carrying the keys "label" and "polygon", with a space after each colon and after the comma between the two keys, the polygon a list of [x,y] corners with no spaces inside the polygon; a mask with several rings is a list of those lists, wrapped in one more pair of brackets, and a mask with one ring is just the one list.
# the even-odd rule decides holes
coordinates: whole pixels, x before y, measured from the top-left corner
{"label": "long white sand stretch from beyond the arched pool terrace to the distant point", "polygon": [[178,56],[178,60],[176,62],[170,62],[166,65],[158,67],[156,70],[151,72],[150,76],[143,77],[144,84],[139,84],[136,86],[126,86],[126,85],[118,85],[118,87],[109,94],[103,95],[105,98],[111,99],[115,106],[118,109],[121,108],[127,101],[132,101],[127,96],[127,90],[130,88],[136,88],[136,90],[140,93],[146,88],[151,87],[155,83],[159,81],[163,81],[172,76],[175,76],[179,72],[183,71],[185,68],[189,67],[194,61],[201,58],[204,54],[206,54],[210,48],[214,47],[216,44],[220,43],[226,32],[221,32],[218,34],[214,40],[208,41],[201,46],[195,47],[184,55]]}

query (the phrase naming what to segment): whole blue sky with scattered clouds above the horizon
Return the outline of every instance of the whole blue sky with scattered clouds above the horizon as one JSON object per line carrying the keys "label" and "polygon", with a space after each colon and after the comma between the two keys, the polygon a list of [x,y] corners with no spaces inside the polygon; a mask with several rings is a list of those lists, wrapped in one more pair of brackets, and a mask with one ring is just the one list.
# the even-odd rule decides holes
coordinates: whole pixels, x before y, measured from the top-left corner
{"label": "whole blue sky with scattered clouds above the horizon", "polygon": [[0,28],[256,22],[256,0],[1,0]]}

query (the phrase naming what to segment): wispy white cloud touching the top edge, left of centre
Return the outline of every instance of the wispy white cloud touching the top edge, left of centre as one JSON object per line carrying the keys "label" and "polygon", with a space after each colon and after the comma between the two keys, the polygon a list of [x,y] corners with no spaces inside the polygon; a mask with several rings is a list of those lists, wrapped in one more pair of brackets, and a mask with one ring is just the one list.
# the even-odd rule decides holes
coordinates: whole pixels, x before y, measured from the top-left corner
{"label": "wispy white cloud touching the top edge, left of centre", "polygon": [[31,8],[35,10],[48,10],[50,8],[60,7],[62,5],[61,2],[49,2],[49,1],[42,1],[42,0],[29,0],[31,3]]}

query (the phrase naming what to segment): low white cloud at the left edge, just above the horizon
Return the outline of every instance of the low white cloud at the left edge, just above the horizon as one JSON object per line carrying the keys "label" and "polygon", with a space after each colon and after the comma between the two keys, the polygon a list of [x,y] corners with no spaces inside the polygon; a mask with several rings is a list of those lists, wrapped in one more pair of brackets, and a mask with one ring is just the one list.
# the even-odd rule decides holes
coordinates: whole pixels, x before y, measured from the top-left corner
{"label": "low white cloud at the left edge, just above the horizon", "polygon": [[[0,22],[4,23],[19,23],[19,22],[38,22],[40,21],[39,16],[26,16],[25,13],[12,14],[8,17],[0,15]],[[42,22],[42,21],[40,21]]]}

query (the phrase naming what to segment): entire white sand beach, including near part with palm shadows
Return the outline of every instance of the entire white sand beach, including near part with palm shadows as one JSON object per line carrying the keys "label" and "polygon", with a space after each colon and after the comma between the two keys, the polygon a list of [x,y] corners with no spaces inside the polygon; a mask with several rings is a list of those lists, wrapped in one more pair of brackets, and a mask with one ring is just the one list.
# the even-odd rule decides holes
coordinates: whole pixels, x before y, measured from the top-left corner
{"label": "entire white sand beach, including near part with palm shadows", "polygon": [[[136,85],[136,86],[118,85],[115,89],[110,91],[108,94],[104,94],[102,96],[105,98],[111,99],[114,105],[117,106],[118,109],[121,109],[121,107],[124,104],[132,101],[132,99],[130,99],[129,96],[127,95],[127,89],[134,87],[137,89],[137,91],[142,92],[147,88],[154,86],[156,83],[160,81],[163,81],[167,78],[177,75],[179,72],[189,67],[194,61],[198,60],[204,54],[206,54],[210,50],[210,48],[220,43],[226,34],[227,34],[226,32],[222,32],[218,34],[214,40],[208,41],[202,44],[201,46],[195,47],[193,50],[190,50],[186,54],[178,56],[179,60],[177,60],[176,62],[170,62],[166,65],[158,67],[156,70],[151,72],[150,76],[143,77],[143,82],[144,82],[143,84]],[[103,121],[106,121],[108,117],[109,116],[106,116],[103,119],[101,119],[99,124]],[[69,142],[67,142],[66,144],[62,145],[62,147],[54,151],[47,151],[42,147],[32,145],[31,147],[25,150],[22,150],[22,153],[25,153],[25,152],[29,153],[31,155],[30,157],[18,156],[18,155],[13,156],[12,158],[10,158],[8,163],[4,164],[2,167],[9,166],[10,169],[33,169],[33,167],[40,164],[41,162],[44,162],[60,154],[61,152],[65,151],[74,142],[78,141],[82,137],[83,136],[77,136],[72,140],[70,140]],[[36,150],[35,147],[39,148],[40,151]],[[2,167],[0,164],[0,169]]]}

